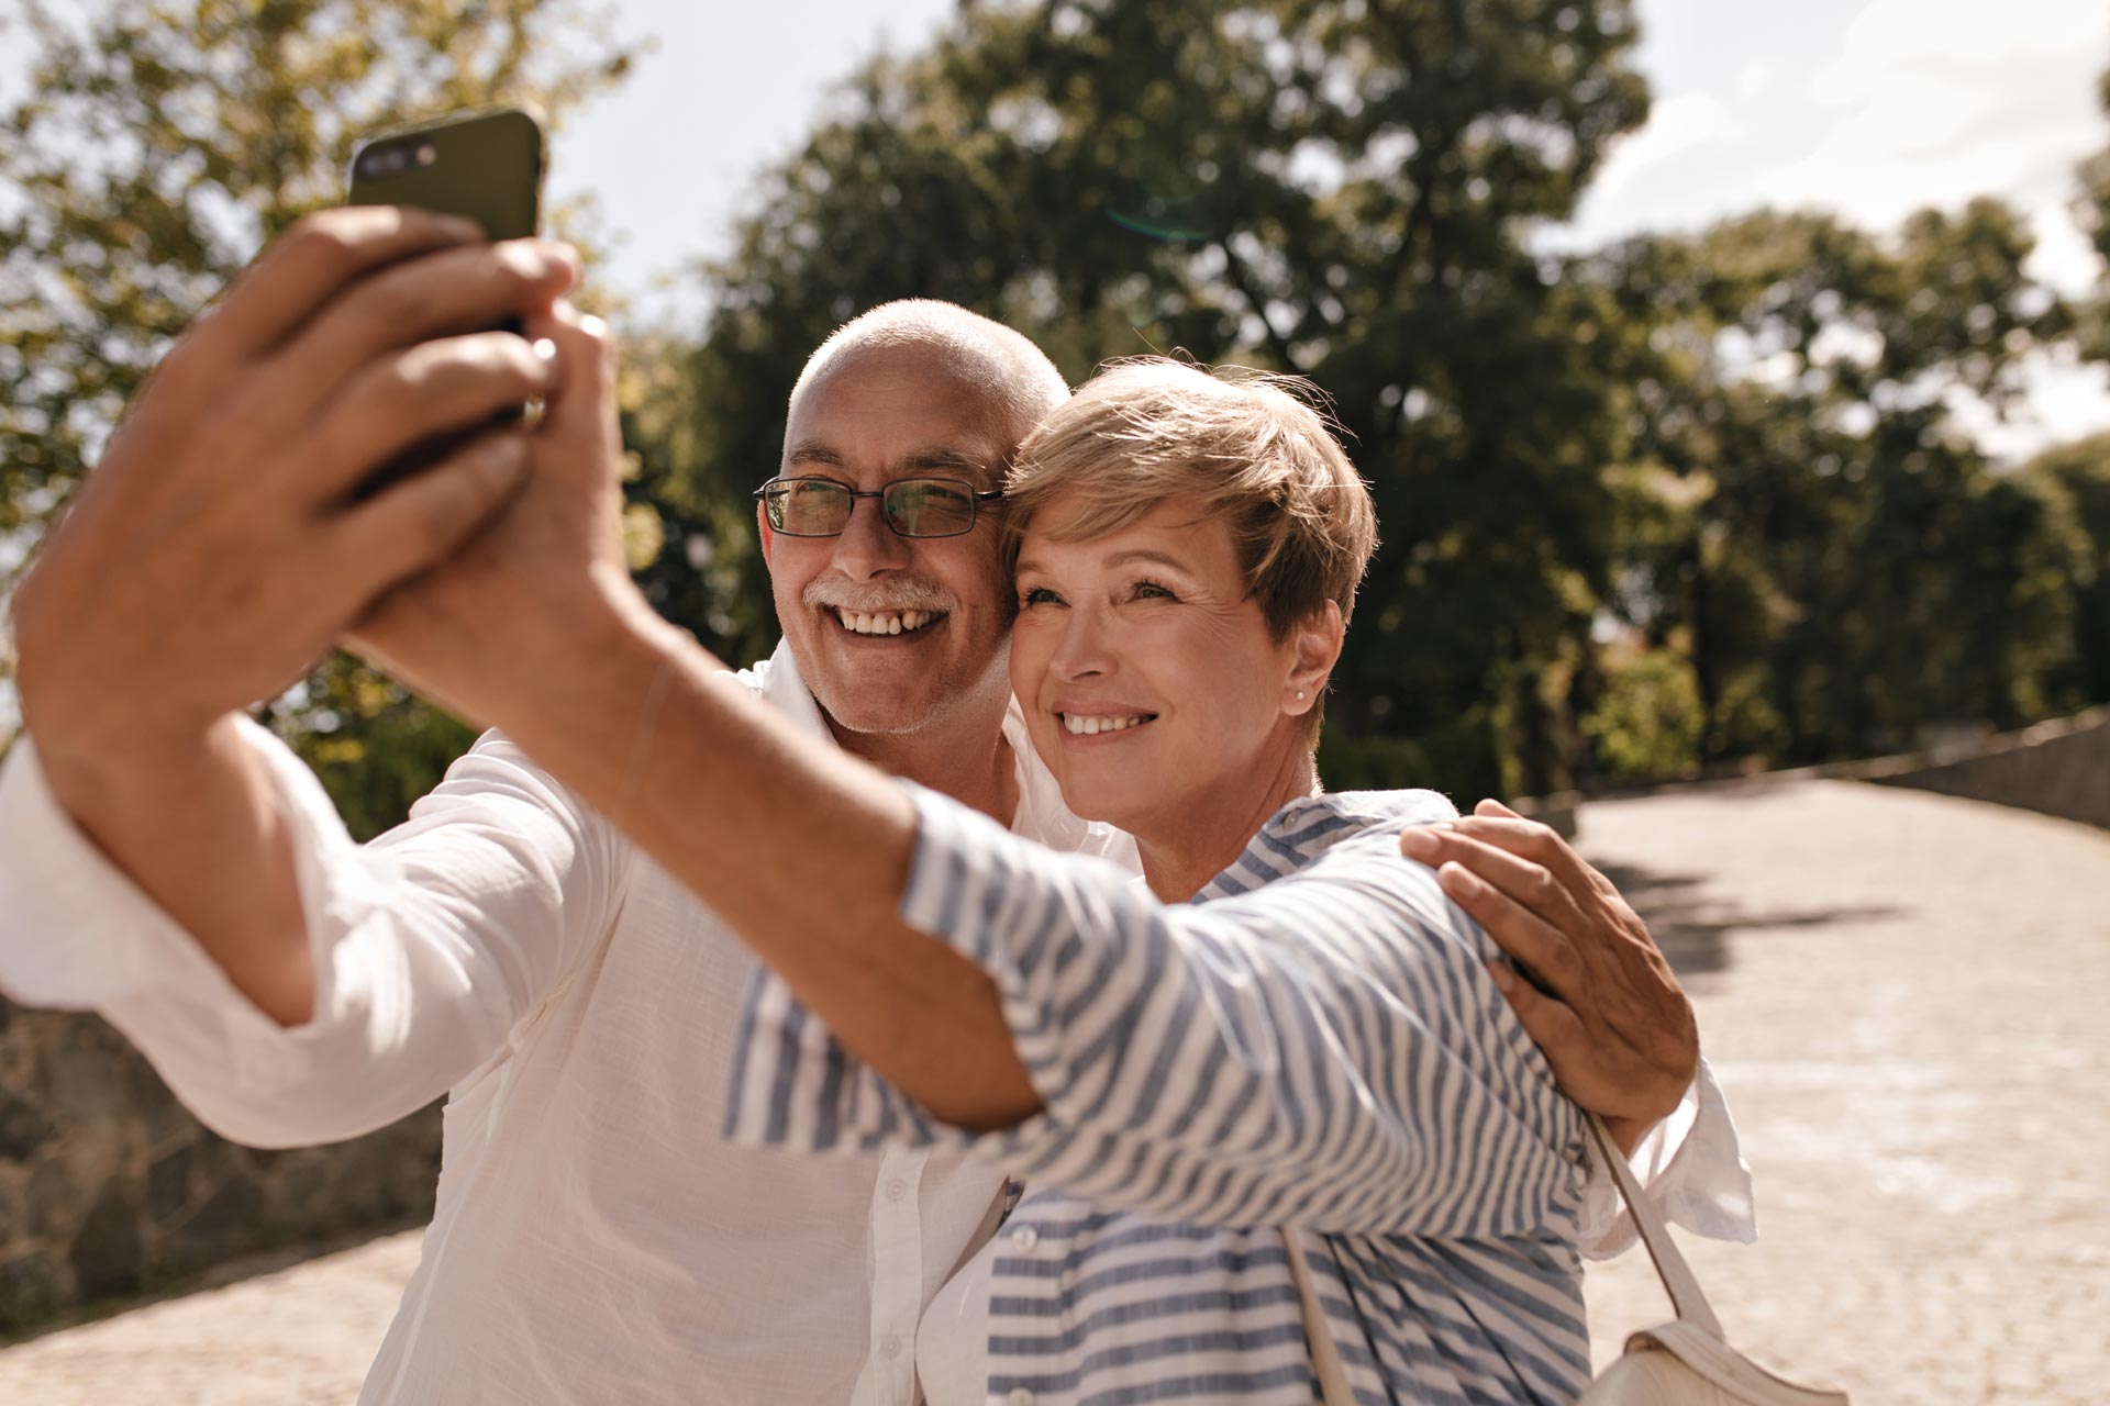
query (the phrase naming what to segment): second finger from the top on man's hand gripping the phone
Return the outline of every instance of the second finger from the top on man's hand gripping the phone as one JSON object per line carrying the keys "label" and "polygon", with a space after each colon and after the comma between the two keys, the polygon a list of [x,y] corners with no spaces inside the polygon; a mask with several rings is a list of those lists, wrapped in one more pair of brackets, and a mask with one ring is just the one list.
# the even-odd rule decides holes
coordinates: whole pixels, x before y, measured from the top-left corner
{"label": "second finger from the top on man's hand gripping the phone", "polygon": [[285,350],[287,411],[331,398],[386,352],[525,318],[578,278],[578,257],[546,240],[445,249],[382,270],[329,304]]}

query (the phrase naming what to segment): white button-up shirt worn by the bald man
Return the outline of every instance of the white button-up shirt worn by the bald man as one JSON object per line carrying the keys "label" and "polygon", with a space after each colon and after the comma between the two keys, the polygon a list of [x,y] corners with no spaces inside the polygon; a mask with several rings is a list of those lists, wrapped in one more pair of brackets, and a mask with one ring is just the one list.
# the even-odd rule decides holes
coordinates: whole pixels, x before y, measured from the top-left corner
{"label": "white button-up shirt worn by the bald man", "polygon": [[[827,736],[785,649],[743,679]],[[281,1029],[236,993],[59,809],[27,740],[0,772],[0,991],[99,1010],[238,1143],[348,1138],[452,1090],[361,1406],[907,1406],[916,1324],[1002,1170],[724,1143],[755,959],[504,738],[354,845],[314,776],[245,731],[295,833],[314,1020]],[[1125,835],[1063,809],[1017,710],[1004,734],[1017,833],[1133,866]]]}

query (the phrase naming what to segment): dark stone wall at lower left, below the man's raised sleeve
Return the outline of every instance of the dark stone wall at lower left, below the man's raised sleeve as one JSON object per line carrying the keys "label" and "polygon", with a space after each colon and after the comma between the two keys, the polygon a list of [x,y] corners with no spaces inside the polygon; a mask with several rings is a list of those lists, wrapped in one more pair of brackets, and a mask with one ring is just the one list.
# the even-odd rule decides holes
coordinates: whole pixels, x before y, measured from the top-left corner
{"label": "dark stone wall at lower left, below the man's raised sleeve", "polygon": [[255,1250],[430,1216],[437,1176],[437,1105],[335,1147],[236,1147],[97,1016],[0,1001],[0,1336]]}

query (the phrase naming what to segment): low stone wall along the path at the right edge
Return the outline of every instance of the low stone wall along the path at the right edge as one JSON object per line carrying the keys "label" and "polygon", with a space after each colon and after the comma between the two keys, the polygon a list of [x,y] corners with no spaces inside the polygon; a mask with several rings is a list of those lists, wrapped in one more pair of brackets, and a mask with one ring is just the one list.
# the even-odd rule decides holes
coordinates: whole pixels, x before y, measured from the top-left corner
{"label": "low stone wall along the path at the right edge", "polygon": [[2110,828],[2110,708],[2038,723],[1956,753],[1888,757],[1848,774]]}

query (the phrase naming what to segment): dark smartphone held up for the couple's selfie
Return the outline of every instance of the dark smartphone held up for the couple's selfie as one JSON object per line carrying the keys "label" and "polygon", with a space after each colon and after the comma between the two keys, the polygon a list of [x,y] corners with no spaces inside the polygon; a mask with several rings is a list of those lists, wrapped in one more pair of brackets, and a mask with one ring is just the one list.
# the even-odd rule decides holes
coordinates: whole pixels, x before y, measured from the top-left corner
{"label": "dark smartphone held up for the couple's selfie", "polygon": [[[542,124],[528,112],[477,112],[430,126],[384,133],[352,154],[346,204],[411,204],[466,215],[492,240],[530,238],[542,209]],[[517,333],[519,320],[498,325]],[[519,419],[525,407],[496,417]],[[487,424],[416,445],[367,474],[359,497],[426,470],[475,438]]]}

